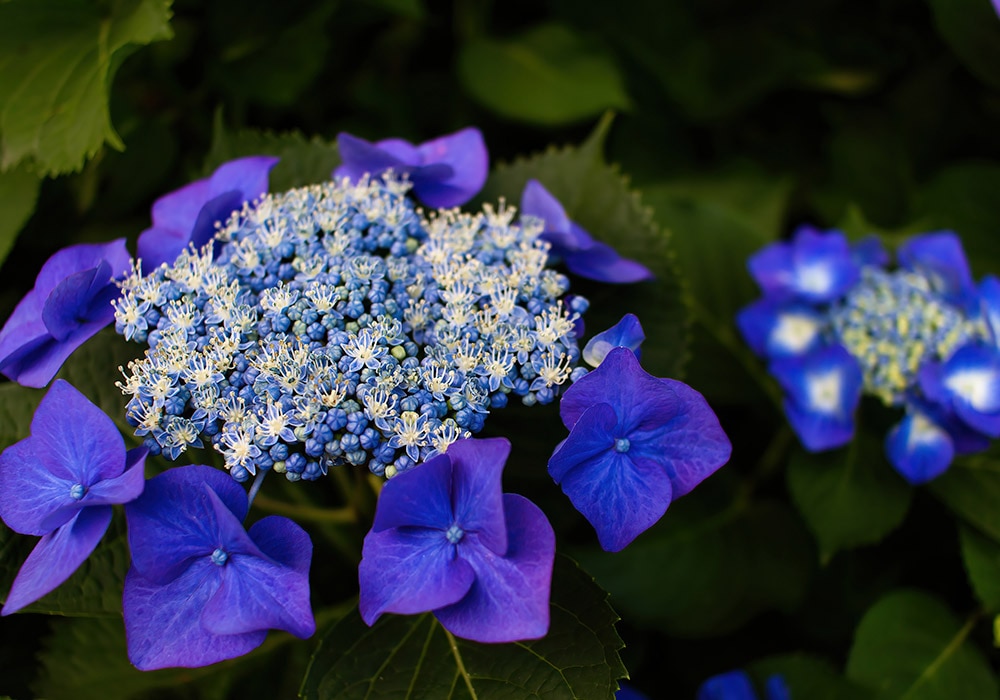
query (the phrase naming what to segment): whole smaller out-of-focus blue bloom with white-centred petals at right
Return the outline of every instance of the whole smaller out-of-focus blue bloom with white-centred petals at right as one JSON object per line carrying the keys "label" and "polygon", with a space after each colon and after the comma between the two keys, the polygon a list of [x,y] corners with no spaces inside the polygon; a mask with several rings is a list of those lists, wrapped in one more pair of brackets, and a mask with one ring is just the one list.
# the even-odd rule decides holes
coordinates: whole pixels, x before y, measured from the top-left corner
{"label": "whole smaller out-of-focus blue bloom with white-centred petals at right", "polygon": [[749,260],[764,296],[737,325],[807,449],[849,442],[871,395],[902,411],[885,450],[919,484],[1000,437],[1000,282],[977,285],[949,231],[910,238],[896,260],[875,238],[803,227]]}

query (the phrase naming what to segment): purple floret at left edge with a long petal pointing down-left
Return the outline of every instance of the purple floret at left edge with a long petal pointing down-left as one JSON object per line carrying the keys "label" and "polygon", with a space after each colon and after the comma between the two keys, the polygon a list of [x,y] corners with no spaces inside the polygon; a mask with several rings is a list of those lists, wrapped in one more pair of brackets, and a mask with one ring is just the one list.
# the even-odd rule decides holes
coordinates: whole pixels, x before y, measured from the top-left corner
{"label": "purple floret at left edge with a long petal pointing down-left", "polygon": [[33,603],[90,556],[111,524],[111,504],[142,493],[146,450],[125,451],[114,423],[65,380],[38,405],[31,436],[0,454],[0,518],[41,536],[14,579],[2,614]]}

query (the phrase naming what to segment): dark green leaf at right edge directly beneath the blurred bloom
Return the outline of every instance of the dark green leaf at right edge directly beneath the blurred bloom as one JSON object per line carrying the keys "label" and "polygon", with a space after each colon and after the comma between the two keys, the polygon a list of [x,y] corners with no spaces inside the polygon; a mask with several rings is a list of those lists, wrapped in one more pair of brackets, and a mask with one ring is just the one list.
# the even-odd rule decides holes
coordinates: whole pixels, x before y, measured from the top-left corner
{"label": "dark green leaf at right edge directly beneath the blurred bloom", "polygon": [[1000,542],[1000,459],[993,453],[956,459],[929,489],[959,519]]}

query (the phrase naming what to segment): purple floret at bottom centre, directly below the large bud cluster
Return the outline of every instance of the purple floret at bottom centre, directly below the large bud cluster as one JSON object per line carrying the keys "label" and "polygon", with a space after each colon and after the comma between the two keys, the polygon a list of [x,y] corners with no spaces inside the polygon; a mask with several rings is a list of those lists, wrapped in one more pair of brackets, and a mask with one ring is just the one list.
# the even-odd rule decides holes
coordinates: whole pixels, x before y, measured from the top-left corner
{"label": "purple floret at bottom centre, directly below the large bud cluster", "polygon": [[433,611],[480,642],[543,637],[555,533],[531,501],[501,491],[503,438],[459,440],[386,482],[365,537],[361,616]]}

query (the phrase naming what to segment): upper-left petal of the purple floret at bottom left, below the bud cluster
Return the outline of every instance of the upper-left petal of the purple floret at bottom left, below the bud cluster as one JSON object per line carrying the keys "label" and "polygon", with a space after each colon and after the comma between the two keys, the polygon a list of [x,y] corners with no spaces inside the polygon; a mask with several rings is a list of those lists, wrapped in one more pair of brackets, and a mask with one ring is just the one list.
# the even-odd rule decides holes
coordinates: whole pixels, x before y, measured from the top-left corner
{"label": "upper-left petal of the purple floret at bottom left, below the bud cluster", "polygon": [[125,506],[132,567],[150,583],[175,579],[191,559],[207,557],[218,546],[216,505],[209,491],[242,522],[248,508],[243,489],[225,472],[201,465],[153,477]]}

